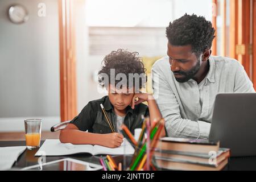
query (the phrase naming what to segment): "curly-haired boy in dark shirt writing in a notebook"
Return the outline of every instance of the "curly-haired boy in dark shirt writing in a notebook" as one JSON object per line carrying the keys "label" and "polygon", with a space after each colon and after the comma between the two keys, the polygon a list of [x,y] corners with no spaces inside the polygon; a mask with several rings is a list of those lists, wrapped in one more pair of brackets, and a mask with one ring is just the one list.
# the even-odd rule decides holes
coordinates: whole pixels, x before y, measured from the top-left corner
{"label": "curly-haired boy in dark shirt writing in a notebook", "polygon": [[[151,123],[162,118],[154,97],[139,92],[146,84],[147,77],[138,52],[118,49],[112,51],[103,61],[105,65],[98,72],[98,81],[108,90],[108,96],[90,101],[81,113],[61,130],[61,142],[119,147],[123,142],[123,135],[112,133],[100,104],[104,106],[115,132],[124,123],[131,133],[134,133],[134,129],[142,126],[141,115],[150,115]],[[130,75],[135,77],[131,78]],[[142,104],[144,101],[147,101],[148,106]],[[165,131],[162,135],[165,135]]]}

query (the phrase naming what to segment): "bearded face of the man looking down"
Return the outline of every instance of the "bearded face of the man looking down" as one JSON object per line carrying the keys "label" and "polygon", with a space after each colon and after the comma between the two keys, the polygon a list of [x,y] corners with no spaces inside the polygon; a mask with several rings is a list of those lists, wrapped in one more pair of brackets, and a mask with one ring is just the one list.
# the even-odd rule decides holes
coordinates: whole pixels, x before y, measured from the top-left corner
{"label": "bearded face of the man looking down", "polygon": [[191,45],[172,46],[168,43],[167,55],[169,56],[171,71],[178,82],[187,82],[195,77],[200,69],[201,60],[197,59],[196,54],[192,52]]}

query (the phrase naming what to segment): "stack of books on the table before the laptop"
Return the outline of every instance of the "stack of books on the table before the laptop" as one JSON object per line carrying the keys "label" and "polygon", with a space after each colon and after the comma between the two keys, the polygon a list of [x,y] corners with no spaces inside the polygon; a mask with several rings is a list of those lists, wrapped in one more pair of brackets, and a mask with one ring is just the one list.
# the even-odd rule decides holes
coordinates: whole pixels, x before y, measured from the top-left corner
{"label": "stack of books on the table before the laptop", "polygon": [[230,150],[220,148],[220,142],[164,137],[154,156],[157,166],[163,169],[219,171],[228,164]]}

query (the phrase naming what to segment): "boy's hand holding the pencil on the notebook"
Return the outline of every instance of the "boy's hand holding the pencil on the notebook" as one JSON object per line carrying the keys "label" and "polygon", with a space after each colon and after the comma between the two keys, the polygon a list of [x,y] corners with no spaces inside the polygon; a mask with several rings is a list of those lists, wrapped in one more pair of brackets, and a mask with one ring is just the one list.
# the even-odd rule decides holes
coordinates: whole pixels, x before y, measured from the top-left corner
{"label": "boy's hand holding the pencil on the notebook", "polygon": [[123,135],[119,133],[104,134],[104,142],[102,146],[115,148],[121,146],[123,142]]}

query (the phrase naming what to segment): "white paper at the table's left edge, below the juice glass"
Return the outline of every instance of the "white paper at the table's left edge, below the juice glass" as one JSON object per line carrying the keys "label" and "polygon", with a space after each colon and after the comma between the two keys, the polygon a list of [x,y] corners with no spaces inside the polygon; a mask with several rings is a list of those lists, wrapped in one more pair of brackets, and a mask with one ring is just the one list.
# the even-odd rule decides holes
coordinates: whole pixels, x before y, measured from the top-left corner
{"label": "white paper at the table's left edge, below the juice glass", "polygon": [[26,150],[26,146],[0,147],[0,170],[9,170],[19,155]]}

